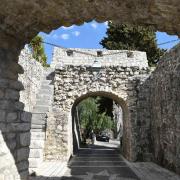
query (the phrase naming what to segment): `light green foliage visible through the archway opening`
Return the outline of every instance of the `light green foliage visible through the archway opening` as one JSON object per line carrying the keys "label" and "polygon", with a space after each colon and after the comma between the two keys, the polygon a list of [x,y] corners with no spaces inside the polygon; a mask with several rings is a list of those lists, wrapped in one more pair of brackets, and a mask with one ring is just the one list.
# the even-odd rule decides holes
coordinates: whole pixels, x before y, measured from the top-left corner
{"label": "light green foliage visible through the archway opening", "polygon": [[99,112],[98,98],[87,98],[78,105],[80,126],[87,132],[94,130],[96,133],[111,129],[114,124],[106,112]]}

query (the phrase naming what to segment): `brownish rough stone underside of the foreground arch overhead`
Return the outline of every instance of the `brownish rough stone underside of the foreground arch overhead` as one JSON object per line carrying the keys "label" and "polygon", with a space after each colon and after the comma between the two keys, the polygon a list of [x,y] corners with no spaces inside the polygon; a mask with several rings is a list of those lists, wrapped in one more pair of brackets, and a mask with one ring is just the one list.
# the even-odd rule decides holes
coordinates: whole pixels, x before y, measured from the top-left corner
{"label": "brownish rough stone underside of the foreground arch overhead", "polygon": [[95,19],[152,25],[156,30],[176,34],[180,31],[178,8],[178,0],[6,1],[0,7],[3,19],[0,30],[27,42],[39,31],[48,32],[62,25],[80,25]]}

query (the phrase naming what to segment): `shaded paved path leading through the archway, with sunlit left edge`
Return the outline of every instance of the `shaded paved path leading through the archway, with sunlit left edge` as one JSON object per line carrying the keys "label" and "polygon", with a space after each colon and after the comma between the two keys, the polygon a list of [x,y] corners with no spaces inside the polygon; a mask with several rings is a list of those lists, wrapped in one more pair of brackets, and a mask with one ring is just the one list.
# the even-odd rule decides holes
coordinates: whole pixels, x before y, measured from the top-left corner
{"label": "shaded paved path leading through the archway, with sunlit left edge", "polygon": [[118,147],[116,141],[96,141],[79,149],[68,165],[45,161],[30,180],[180,180],[177,174],[152,162],[128,162]]}

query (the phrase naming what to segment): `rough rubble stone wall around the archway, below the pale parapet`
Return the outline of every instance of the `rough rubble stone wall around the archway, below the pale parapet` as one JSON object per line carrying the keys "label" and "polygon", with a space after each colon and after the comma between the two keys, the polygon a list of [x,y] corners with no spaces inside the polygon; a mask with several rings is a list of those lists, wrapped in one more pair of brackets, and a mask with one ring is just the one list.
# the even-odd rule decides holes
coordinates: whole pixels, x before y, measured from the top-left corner
{"label": "rough rubble stone wall around the archway, below the pale parapet", "polygon": [[136,160],[136,103],[139,76],[148,68],[109,66],[99,72],[91,66],[56,66],[53,117],[47,125],[46,159],[66,159],[72,154],[71,108],[75,101],[94,93],[110,97],[124,112],[124,155]]}

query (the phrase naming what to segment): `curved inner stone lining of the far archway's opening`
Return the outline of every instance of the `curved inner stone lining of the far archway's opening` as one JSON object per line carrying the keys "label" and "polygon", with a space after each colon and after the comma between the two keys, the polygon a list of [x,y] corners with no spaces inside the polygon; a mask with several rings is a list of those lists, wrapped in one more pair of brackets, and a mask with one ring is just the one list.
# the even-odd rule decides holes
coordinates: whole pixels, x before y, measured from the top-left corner
{"label": "curved inner stone lining of the far archway's opening", "polygon": [[[105,92],[105,91],[94,91],[94,92],[87,92],[86,94],[83,94],[79,96],[77,99],[75,99],[72,108],[71,108],[71,119],[72,119],[72,131],[73,131],[73,147],[72,147],[72,154],[77,152],[77,148],[80,147],[80,141],[79,141],[79,132],[77,132],[77,126],[76,120],[75,120],[75,113],[76,113],[76,107],[79,103],[81,103],[83,100],[89,98],[89,97],[106,97],[114,102],[116,102],[121,108],[122,108],[122,121],[123,121],[123,139],[122,139],[122,144],[120,146],[121,153],[125,156],[128,157],[128,148],[131,146],[130,140],[130,119],[129,119],[129,112],[128,112],[128,106],[125,101],[125,99],[119,97],[113,92]],[[75,142],[74,142],[75,141]],[[74,147],[75,146],[75,147]]]}

